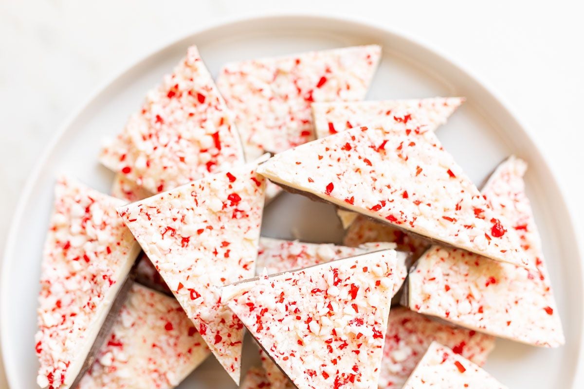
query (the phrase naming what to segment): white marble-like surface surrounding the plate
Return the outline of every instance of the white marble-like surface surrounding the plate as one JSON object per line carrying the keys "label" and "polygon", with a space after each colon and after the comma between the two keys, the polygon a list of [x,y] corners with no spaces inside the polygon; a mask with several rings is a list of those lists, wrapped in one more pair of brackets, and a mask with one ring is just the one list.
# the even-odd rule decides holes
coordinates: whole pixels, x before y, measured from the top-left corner
{"label": "white marble-like surface surrounding the plate", "polygon": [[89,94],[174,38],[266,12],[382,23],[470,69],[527,124],[584,236],[582,2],[0,0],[0,249],[39,153]]}

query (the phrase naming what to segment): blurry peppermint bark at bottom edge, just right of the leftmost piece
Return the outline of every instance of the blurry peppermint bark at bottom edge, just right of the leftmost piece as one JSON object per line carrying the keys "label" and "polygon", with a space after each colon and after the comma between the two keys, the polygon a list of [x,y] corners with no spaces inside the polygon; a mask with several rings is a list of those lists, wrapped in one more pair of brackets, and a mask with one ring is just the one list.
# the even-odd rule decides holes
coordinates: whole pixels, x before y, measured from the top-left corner
{"label": "blurry peppermint bark at bottom edge, just right of the leftmost piece", "polygon": [[171,389],[210,353],[173,297],[134,284],[79,389]]}

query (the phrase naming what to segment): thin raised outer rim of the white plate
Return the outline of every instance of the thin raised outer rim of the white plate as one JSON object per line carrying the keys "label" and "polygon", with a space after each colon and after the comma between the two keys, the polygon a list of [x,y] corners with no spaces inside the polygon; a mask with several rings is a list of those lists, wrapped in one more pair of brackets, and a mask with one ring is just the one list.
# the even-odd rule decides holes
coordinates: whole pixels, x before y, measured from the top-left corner
{"label": "thin raised outer rim of the white plate", "polygon": [[[50,141],[47,143],[46,147],[43,149],[43,152],[37,161],[34,164],[33,169],[30,170],[28,177],[26,178],[25,185],[23,185],[22,190],[20,191],[19,199],[16,204],[15,211],[12,215],[11,222],[8,226],[8,233],[6,234],[5,240],[5,248],[4,252],[2,253],[2,264],[0,267],[0,353],[2,356],[2,365],[4,366],[4,373],[6,381],[8,381],[9,387],[15,385],[16,381],[16,372],[15,372],[15,365],[16,362],[9,360],[7,358],[8,355],[8,346],[6,346],[5,339],[8,336],[6,334],[6,321],[8,321],[9,314],[5,314],[7,301],[8,300],[8,288],[6,285],[8,284],[8,258],[13,257],[13,252],[15,251],[15,241],[16,241],[16,228],[22,223],[22,217],[25,210],[26,204],[30,201],[32,197],[32,190],[33,186],[36,181],[39,179],[41,169],[43,168],[44,164],[48,160],[51,152],[57,144],[64,138],[65,134],[69,131],[71,125],[79,118],[83,112],[86,110],[88,106],[94,100],[97,100],[100,94],[105,93],[107,89],[112,87],[117,80],[124,78],[129,73],[133,72],[135,68],[140,66],[143,62],[148,61],[148,59],[153,58],[159,55],[162,51],[166,50],[167,48],[171,47],[172,45],[179,43],[180,41],[187,40],[189,37],[195,36],[197,34],[203,33],[211,33],[214,29],[223,29],[228,26],[235,26],[238,23],[250,23],[250,22],[258,22],[258,23],[266,23],[269,22],[270,19],[278,20],[278,19],[289,19],[289,21],[298,20],[298,22],[302,22],[303,19],[312,19],[313,22],[339,22],[339,23],[350,23],[353,24],[354,27],[358,29],[375,29],[380,31],[381,33],[387,36],[398,37],[401,40],[408,43],[408,45],[413,45],[416,47],[416,50],[425,51],[429,54],[432,54],[436,57],[440,57],[444,62],[446,62],[449,66],[456,71],[462,73],[468,79],[471,79],[476,86],[481,89],[481,94],[486,94],[493,101],[496,101],[500,108],[506,112],[507,116],[510,120],[514,121],[516,127],[523,132],[523,136],[529,144],[530,149],[535,150],[537,155],[541,157],[543,162],[542,166],[545,169],[546,173],[549,177],[551,177],[551,186],[553,189],[559,194],[559,202],[556,206],[561,208],[561,212],[567,216],[564,218],[564,223],[567,225],[566,230],[569,231],[568,240],[573,242],[573,246],[576,249],[576,255],[580,258],[580,261],[577,261],[578,273],[580,275],[580,280],[584,281],[584,266],[582,264],[583,258],[583,251],[582,247],[580,246],[580,242],[576,238],[575,232],[575,225],[572,220],[571,213],[568,210],[568,205],[566,203],[565,197],[565,188],[559,183],[557,177],[553,174],[550,163],[549,157],[543,152],[543,149],[534,141],[530,133],[526,130],[528,126],[526,123],[521,120],[519,115],[516,114],[516,110],[513,108],[512,104],[509,103],[498,91],[488,82],[486,82],[480,76],[477,76],[474,72],[470,71],[464,65],[458,64],[456,61],[450,58],[449,55],[444,53],[442,50],[436,47],[436,45],[430,44],[427,41],[423,40],[420,37],[414,37],[410,33],[406,33],[401,29],[396,29],[392,26],[384,26],[379,22],[374,22],[372,20],[367,20],[366,17],[362,16],[354,16],[354,15],[346,15],[341,13],[324,13],[319,11],[314,12],[254,12],[254,13],[244,13],[240,16],[227,16],[227,17],[219,17],[214,22],[207,22],[203,24],[201,27],[197,29],[193,29],[188,33],[179,35],[177,37],[171,38],[166,43],[158,45],[151,51],[148,51],[147,54],[141,55],[138,59],[134,61],[130,61],[125,65],[121,65],[117,71],[114,71],[112,75],[107,77],[104,82],[99,83],[99,85],[93,89],[91,93],[89,93],[88,97],[82,101],[74,110],[71,111],[70,114],[67,115],[62,124],[57,128],[57,131],[51,136]],[[580,301],[584,300],[584,282],[581,282],[578,288],[578,295],[580,296]],[[580,323],[584,323],[582,317],[580,317]],[[576,359],[576,370],[575,374],[572,377],[572,387],[577,388],[578,383],[584,383],[584,347],[582,347],[582,329],[580,329],[578,344],[580,345],[580,349],[578,351],[578,358]]]}

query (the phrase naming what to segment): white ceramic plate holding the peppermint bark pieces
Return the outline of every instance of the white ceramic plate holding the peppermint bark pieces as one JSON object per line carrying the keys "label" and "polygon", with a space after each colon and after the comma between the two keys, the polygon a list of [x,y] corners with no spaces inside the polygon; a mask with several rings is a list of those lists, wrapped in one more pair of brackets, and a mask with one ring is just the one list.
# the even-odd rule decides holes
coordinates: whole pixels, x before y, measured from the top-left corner
{"label": "white ceramic plate holding the peppermint bark pieces", "polygon": [[[578,373],[582,342],[582,269],[561,193],[540,152],[522,125],[481,83],[436,52],[402,34],[350,20],[319,16],[270,16],[218,24],[176,41],[144,58],[96,94],[61,129],[23,191],[8,238],[1,285],[2,353],[13,389],[36,387],[37,293],[41,247],[53,201],[55,176],[73,174],[108,191],[113,174],[96,160],[106,135],[120,131],[145,91],[197,44],[211,72],[227,61],[298,51],[377,43],[383,60],[368,99],[466,96],[467,103],[440,128],[444,147],[477,184],[510,153],[529,162],[527,185],[566,334],[566,346],[538,349],[498,340],[486,370],[509,387],[568,388]],[[266,211],[263,234],[308,241],[339,241],[339,222],[330,206],[283,195]],[[257,362],[246,341],[244,372]],[[181,388],[235,387],[209,358]]]}

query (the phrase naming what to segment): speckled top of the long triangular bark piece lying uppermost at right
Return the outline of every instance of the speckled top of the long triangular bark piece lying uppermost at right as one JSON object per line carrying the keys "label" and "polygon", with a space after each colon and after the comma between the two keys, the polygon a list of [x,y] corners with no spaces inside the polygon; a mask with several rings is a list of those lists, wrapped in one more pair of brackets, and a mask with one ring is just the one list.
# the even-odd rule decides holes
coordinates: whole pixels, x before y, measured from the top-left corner
{"label": "speckled top of the long triangular bark piece lying uppermost at right", "polygon": [[431,131],[405,117],[352,128],[272,157],[258,172],[294,190],[422,236],[530,266],[496,215]]}

